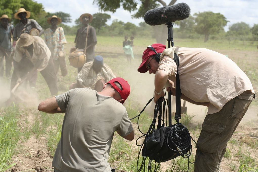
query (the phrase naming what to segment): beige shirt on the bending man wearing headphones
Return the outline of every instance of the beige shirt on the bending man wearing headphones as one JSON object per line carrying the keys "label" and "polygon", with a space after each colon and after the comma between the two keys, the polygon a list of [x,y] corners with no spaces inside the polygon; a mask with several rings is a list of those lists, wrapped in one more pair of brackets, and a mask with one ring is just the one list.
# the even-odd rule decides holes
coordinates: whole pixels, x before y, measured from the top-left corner
{"label": "beige shirt on the bending man wearing headphones", "polygon": [[174,46],[163,51],[157,71],[167,71],[174,86],[174,53],[179,55],[181,92],[193,101],[211,102],[207,114],[220,111],[229,100],[246,90],[254,92],[251,81],[235,62],[206,48]]}

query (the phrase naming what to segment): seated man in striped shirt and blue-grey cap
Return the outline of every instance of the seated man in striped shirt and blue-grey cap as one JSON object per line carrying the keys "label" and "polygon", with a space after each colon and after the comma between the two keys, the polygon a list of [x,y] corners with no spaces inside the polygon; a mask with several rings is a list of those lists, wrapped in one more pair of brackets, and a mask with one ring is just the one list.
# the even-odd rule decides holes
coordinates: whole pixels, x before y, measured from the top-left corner
{"label": "seated man in striped shirt and blue-grey cap", "polygon": [[72,84],[70,89],[83,87],[101,91],[104,84],[115,77],[110,67],[103,62],[102,56],[97,55],[93,62],[84,64],[76,77],[77,83]]}

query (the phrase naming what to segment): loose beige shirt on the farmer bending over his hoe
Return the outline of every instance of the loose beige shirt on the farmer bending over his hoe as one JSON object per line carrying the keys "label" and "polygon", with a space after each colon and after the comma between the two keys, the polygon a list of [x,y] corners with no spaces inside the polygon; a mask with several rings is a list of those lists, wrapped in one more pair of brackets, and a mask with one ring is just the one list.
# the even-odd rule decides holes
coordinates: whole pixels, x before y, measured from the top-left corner
{"label": "loose beige shirt on the farmer bending over his hoe", "polygon": [[28,50],[19,46],[19,43],[17,43],[13,60],[20,62],[23,54],[26,54],[26,58],[28,58],[33,64],[36,64],[38,60],[43,59],[42,64],[38,68],[38,71],[42,71],[46,68],[49,62],[51,52],[41,37],[33,36],[33,39],[33,55],[31,56]]}

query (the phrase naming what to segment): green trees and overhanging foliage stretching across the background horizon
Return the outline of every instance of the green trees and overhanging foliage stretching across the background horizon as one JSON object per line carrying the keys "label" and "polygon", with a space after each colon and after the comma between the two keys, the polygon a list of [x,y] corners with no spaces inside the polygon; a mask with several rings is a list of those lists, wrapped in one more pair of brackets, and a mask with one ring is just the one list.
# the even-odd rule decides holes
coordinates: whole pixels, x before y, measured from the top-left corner
{"label": "green trees and overhanging foliage stretching across the background horizon", "polygon": [[[142,0],[141,7],[132,17],[141,18],[148,9],[152,9],[160,6],[162,1],[152,0],[149,4],[144,4]],[[114,3],[109,4],[108,0],[95,0],[101,10],[115,12],[119,6],[114,6]],[[105,5],[103,6],[103,2]],[[135,10],[136,3],[130,3],[131,1],[123,1],[122,3],[125,10]],[[176,0],[171,1],[168,5],[172,5]],[[102,4],[102,6],[101,6]],[[148,6],[147,6],[148,5]],[[162,3],[161,5],[166,5]],[[14,19],[14,14],[17,10],[23,7],[27,11],[31,12],[30,19],[35,19],[44,28],[50,27],[47,23],[47,18],[52,15],[56,15],[62,19],[62,26],[66,34],[76,34],[77,29],[80,27],[79,16],[75,21],[75,26],[68,26],[71,23],[71,16],[64,12],[49,13],[44,11],[44,7],[41,3],[37,3],[33,0],[1,0],[0,1],[0,15],[7,14],[12,19],[12,23],[15,25],[19,20]],[[95,13],[93,14],[93,20],[90,23],[96,29],[97,35],[107,36],[137,36],[137,37],[151,37],[156,38],[157,42],[160,42],[161,37],[166,36],[167,28],[163,25],[149,26],[145,22],[140,22],[139,26],[131,22],[123,22],[113,20],[110,25],[107,21],[110,20],[110,15],[106,13]],[[227,32],[224,31],[224,26],[228,23],[227,19],[220,13],[213,12],[199,12],[193,16],[189,16],[187,19],[182,21],[176,21],[174,23],[173,32],[174,37],[178,38],[192,38],[192,39],[204,39],[207,42],[209,39],[227,39],[230,41],[234,40],[252,40],[258,41],[258,24],[255,24],[252,28],[245,22],[237,22],[229,27]],[[160,33],[162,31],[162,33]],[[159,35],[163,35],[160,36]],[[165,38],[164,42],[165,43]]]}

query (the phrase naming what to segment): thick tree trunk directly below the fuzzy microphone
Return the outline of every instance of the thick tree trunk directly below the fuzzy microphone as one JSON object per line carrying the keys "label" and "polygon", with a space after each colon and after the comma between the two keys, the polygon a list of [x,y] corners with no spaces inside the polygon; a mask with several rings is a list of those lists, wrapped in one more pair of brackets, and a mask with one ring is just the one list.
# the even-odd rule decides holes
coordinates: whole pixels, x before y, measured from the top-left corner
{"label": "thick tree trunk directly below the fuzzy microphone", "polygon": [[152,26],[156,38],[156,43],[166,44],[167,42],[167,25],[156,25]]}

